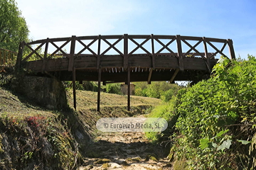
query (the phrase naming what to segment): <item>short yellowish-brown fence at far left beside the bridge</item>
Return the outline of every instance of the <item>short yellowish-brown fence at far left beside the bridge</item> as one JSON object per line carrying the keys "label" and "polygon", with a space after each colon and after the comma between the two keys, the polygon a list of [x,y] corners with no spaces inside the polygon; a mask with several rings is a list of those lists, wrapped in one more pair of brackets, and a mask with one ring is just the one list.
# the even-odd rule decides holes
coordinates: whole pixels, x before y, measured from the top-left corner
{"label": "short yellowish-brown fence at far left beside the bridge", "polygon": [[18,52],[0,48],[0,66],[14,66]]}

